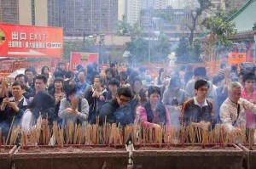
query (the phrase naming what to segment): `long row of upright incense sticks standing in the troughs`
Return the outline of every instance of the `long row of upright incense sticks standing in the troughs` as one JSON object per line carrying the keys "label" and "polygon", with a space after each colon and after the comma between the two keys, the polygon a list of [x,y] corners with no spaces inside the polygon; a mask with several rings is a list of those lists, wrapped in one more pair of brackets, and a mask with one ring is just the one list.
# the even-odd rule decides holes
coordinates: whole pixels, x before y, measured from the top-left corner
{"label": "long row of upright incense sticks standing in the troughs", "polygon": [[[98,120],[97,120],[98,121]],[[66,131],[66,132],[64,132]],[[15,141],[20,133],[20,127],[13,127],[10,134],[9,144],[15,144]],[[142,125],[131,125],[120,127],[116,124],[105,123],[103,126],[98,124],[87,126],[75,125],[72,122],[67,123],[67,127],[61,128],[54,122],[52,127],[42,125],[42,128],[31,130],[29,137],[26,132],[21,132],[21,144],[26,148],[28,144],[49,144],[49,138],[53,135],[55,143],[60,147],[63,144],[126,144],[129,138],[134,144],[162,144],[163,140],[166,144],[201,143],[205,147],[207,143],[230,144],[237,143],[237,140],[245,140],[246,134],[241,132],[236,135],[232,132],[225,132],[222,127],[215,127],[208,131],[206,128],[201,129],[197,126],[183,127],[181,129],[172,128],[171,132],[166,133],[166,127],[161,126],[159,129],[143,127]],[[249,138],[245,142],[253,144],[253,131],[248,132]],[[3,140],[3,142],[1,142]],[[0,144],[6,145],[5,139],[1,139],[0,129]],[[243,142],[241,142],[243,143]]]}

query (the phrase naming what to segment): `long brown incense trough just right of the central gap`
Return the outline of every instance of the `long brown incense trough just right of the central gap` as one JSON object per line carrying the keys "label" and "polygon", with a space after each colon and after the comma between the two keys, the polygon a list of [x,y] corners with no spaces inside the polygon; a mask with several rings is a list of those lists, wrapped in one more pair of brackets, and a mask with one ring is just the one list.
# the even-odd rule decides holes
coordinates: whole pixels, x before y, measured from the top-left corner
{"label": "long brown incense trough just right of the central gap", "polygon": [[242,168],[242,150],[236,144],[135,145],[134,168]]}

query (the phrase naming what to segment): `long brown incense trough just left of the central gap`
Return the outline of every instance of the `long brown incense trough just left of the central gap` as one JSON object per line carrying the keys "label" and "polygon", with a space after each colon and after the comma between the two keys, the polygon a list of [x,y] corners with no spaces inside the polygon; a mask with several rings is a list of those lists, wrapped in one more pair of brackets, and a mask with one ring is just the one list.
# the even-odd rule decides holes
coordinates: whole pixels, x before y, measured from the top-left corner
{"label": "long brown incense trough just left of the central gap", "polygon": [[125,147],[108,145],[65,145],[27,146],[16,149],[14,162],[16,168],[113,168],[127,166],[128,152]]}

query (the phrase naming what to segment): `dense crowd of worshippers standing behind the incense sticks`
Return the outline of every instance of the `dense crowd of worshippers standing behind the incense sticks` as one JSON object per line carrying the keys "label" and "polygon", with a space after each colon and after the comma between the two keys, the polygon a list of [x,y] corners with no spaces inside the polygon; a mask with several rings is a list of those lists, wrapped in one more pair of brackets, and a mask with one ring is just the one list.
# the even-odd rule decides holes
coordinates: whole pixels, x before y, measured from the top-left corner
{"label": "dense crowd of worshippers standing behind the incense sticks", "polygon": [[[220,65],[211,79],[206,67],[191,65],[161,68],[153,79],[145,67],[117,69],[111,64],[102,75],[96,64],[54,72],[32,66],[11,84],[0,82],[0,127],[7,135],[12,125],[29,133],[46,121],[60,127],[73,124],[115,123],[122,127],[142,124],[201,128],[222,124],[227,132],[256,126],[255,72]],[[177,116],[174,115],[175,114]],[[42,116],[41,118],[38,118]],[[178,125],[177,125],[178,124]]]}

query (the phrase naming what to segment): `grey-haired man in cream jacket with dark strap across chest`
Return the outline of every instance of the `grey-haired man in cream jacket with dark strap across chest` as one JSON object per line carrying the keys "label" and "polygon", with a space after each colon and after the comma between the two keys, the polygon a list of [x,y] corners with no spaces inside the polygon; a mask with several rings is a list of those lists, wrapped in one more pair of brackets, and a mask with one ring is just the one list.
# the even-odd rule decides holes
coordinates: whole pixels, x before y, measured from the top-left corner
{"label": "grey-haired man in cream jacket with dark strap across chest", "polygon": [[220,121],[227,132],[241,132],[246,127],[245,110],[256,114],[256,105],[241,99],[241,84],[230,82],[228,86],[229,97],[220,107]]}

